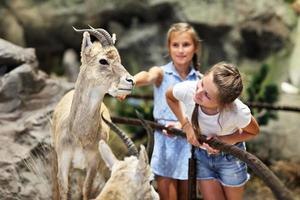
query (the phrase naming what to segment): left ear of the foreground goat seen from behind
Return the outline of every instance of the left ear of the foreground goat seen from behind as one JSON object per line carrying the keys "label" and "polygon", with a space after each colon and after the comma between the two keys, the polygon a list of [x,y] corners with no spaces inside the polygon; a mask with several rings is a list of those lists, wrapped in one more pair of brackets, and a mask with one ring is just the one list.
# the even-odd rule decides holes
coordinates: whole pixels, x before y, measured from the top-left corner
{"label": "left ear of the foreground goat seen from behind", "polygon": [[118,161],[118,159],[115,157],[114,153],[104,140],[99,141],[99,152],[106,166],[111,170],[113,165]]}

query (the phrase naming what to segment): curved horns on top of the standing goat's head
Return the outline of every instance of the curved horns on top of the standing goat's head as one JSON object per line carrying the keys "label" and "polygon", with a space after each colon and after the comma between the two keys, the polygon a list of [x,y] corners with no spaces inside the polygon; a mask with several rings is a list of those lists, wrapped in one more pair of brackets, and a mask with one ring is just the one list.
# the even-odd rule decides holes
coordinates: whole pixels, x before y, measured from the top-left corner
{"label": "curved horns on top of the standing goat's head", "polygon": [[76,32],[87,31],[91,35],[95,36],[100,41],[100,43],[102,44],[102,46],[111,46],[111,45],[114,44],[113,43],[113,39],[111,38],[110,34],[106,30],[104,30],[102,28],[94,29],[91,26],[89,26],[89,27],[90,27],[90,29],[77,29],[75,27],[73,27],[73,29]]}

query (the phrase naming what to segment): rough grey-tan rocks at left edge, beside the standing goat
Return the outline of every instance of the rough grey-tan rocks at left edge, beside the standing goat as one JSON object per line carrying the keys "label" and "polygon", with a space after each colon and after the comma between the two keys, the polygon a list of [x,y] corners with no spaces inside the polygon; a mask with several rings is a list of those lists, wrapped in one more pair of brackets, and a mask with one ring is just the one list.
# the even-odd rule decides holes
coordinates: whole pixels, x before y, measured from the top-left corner
{"label": "rough grey-tan rocks at left edge, beside the standing goat", "polygon": [[0,199],[50,199],[53,107],[73,87],[38,68],[34,49],[0,39]]}

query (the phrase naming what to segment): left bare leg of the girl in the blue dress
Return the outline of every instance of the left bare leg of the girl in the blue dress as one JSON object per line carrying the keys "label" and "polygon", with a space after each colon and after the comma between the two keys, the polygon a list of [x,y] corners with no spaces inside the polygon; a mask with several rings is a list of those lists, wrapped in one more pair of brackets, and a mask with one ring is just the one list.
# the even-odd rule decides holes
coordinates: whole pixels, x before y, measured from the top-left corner
{"label": "left bare leg of the girl in the blue dress", "polygon": [[177,181],[175,179],[157,176],[156,181],[160,200],[177,200]]}

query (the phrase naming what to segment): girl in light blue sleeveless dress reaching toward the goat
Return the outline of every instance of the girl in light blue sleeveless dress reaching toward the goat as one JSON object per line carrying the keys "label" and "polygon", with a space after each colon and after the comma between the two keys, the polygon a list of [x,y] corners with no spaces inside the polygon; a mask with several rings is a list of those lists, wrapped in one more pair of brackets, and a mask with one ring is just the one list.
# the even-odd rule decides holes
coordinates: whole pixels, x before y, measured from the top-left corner
{"label": "girl in light blue sleeveless dress reaching toward the goat", "polygon": [[[134,76],[136,86],[154,86],[153,115],[158,123],[171,125],[177,122],[166,103],[169,86],[186,80],[199,79],[199,37],[187,23],[173,24],[167,33],[167,45],[171,61],[155,66]],[[180,123],[177,122],[179,127]],[[169,136],[160,130],[154,133],[154,150],[151,167],[162,200],[185,200],[188,191],[188,159],[190,144],[185,138]]]}

